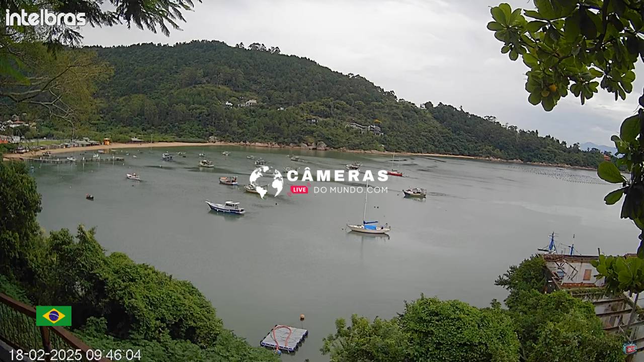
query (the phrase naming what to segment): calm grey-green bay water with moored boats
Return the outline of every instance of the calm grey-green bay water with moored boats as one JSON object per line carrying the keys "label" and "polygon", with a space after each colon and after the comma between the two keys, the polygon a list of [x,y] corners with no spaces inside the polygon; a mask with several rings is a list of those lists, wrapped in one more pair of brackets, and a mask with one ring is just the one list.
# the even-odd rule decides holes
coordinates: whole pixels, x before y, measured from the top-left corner
{"label": "calm grey-green bay water with moored boats", "polygon": [[[222,156],[224,149],[231,155]],[[126,252],[136,262],[194,283],[225,326],[252,345],[275,324],[310,330],[298,352],[283,357],[287,360],[327,360],[318,350],[336,318],[352,313],[390,318],[421,292],[479,307],[503,300],[506,292],[494,280],[545,247],[552,231],[559,242],[574,242],[585,254],[596,254],[598,247],[612,254],[634,252],[638,245],[638,231],[620,220],[619,205],[603,204],[614,187],[594,171],[397,157],[395,168],[406,177],[375,182],[388,193],[370,195],[367,208],[368,219],[392,226],[386,238],[345,231],[347,223],[361,222],[364,194],[288,196],[290,184],[305,183],[285,179],[282,195],[261,200],[242,186],[218,184],[218,177],[236,175],[240,184],[247,183],[254,169],[247,155],[263,157],[279,171],[343,169],[354,161],[363,169],[388,169],[390,158],[241,147],[169,151],[173,162],[161,160],[163,149],[144,148],[130,149],[129,155],[114,151],[125,164],[36,164],[41,225],[96,226],[97,240],[108,252]],[[176,156],[178,151],[187,157]],[[199,153],[216,168],[197,167]],[[291,162],[287,153],[303,162]],[[126,180],[132,171],[143,181]],[[403,198],[407,187],[424,187],[429,195],[424,201]],[[86,193],[95,201],[85,200]],[[206,199],[238,201],[247,214],[211,213]],[[299,314],[306,315],[303,323]]]}

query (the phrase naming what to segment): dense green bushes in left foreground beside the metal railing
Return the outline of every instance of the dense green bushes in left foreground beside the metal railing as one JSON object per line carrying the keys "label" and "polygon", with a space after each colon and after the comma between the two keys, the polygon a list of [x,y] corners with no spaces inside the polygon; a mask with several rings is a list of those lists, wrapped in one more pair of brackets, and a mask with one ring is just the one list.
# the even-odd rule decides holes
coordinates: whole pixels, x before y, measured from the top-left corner
{"label": "dense green bushes in left foreground beside the metal railing", "polygon": [[278,361],[223,328],[189,281],[106,255],[94,229],[41,231],[41,195],[23,162],[0,162],[0,292],[32,305],[71,305],[95,348],[142,348],[144,361]]}

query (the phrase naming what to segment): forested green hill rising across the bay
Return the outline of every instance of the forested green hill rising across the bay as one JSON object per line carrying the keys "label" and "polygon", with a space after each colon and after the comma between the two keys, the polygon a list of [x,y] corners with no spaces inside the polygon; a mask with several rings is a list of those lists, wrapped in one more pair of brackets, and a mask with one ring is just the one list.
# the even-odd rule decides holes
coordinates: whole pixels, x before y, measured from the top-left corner
{"label": "forested green hill rising across the bay", "polygon": [[[504,126],[451,106],[419,108],[359,75],[343,75],[278,48],[231,47],[218,41],[174,46],[95,48],[114,68],[97,96],[97,129],[116,135],[325,142],[332,148],[386,149],[596,166],[583,151],[536,131]],[[257,104],[240,107],[247,100]],[[226,102],[232,103],[227,106]],[[347,128],[355,122],[384,135]]]}

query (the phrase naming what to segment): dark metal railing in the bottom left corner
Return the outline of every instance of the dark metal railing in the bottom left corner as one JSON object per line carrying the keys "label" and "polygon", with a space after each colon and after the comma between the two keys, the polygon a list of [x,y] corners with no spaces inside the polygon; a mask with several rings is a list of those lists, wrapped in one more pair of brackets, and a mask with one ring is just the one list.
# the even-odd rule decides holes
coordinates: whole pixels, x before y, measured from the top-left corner
{"label": "dark metal railing in the bottom left corner", "polygon": [[50,361],[53,354],[49,352],[68,354],[71,350],[75,354],[71,359],[73,361],[109,362],[109,359],[93,353],[93,348],[68,330],[62,327],[37,327],[35,319],[35,308],[0,293],[0,339],[15,350],[23,351],[25,357],[34,359],[29,356],[32,353],[39,357],[37,359]]}

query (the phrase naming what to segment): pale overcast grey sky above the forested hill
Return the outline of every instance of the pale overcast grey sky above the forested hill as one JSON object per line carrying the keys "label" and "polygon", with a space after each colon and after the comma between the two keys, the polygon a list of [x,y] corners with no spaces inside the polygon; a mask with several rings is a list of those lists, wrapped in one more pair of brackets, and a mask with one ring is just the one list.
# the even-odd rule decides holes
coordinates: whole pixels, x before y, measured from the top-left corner
{"label": "pale overcast grey sky above the forested hill", "polygon": [[[83,30],[85,44],[169,43],[193,39],[279,46],[342,73],[362,75],[399,98],[462,106],[560,140],[612,146],[634,114],[644,82],[626,101],[607,93],[585,106],[569,96],[551,112],[527,102],[526,66],[500,53],[486,29],[500,0],[204,0],[170,37],[126,26]],[[531,8],[531,1],[507,1]],[[641,67],[638,67],[641,69]]]}

